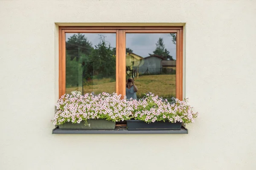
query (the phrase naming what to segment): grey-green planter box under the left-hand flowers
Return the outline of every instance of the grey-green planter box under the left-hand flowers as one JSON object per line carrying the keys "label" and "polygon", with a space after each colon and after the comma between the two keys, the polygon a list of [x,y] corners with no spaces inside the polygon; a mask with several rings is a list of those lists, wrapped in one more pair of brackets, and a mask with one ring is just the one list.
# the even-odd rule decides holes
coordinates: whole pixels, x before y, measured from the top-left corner
{"label": "grey-green planter box under the left-hand flowers", "polygon": [[89,119],[87,123],[90,125],[84,126],[84,121],[80,123],[66,122],[59,125],[60,129],[76,129],[76,130],[114,130],[116,122],[105,119]]}

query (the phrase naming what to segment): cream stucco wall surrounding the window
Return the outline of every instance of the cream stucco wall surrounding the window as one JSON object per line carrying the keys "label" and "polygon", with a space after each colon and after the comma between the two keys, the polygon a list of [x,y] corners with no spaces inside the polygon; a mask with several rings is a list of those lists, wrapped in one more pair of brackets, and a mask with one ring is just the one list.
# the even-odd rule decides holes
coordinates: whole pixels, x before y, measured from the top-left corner
{"label": "cream stucco wall surrounding the window", "polygon": [[[255,0],[1,0],[0,169],[255,169],[255,17]],[[53,135],[65,23],[186,23],[189,134]]]}

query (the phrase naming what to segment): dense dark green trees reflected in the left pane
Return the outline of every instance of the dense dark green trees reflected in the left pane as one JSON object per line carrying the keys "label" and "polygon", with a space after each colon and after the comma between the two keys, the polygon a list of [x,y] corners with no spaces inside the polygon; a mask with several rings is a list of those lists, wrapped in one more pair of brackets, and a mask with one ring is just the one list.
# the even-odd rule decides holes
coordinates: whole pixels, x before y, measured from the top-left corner
{"label": "dense dark green trees reflected in the left pane", "polygon": [[104,38],[101,35],[99,44],[94,48],[84,34],[74,34],[68,38],[66,42],[67,87],[78,86],[90,79],[102,79],[115,75],[116,55]]}

